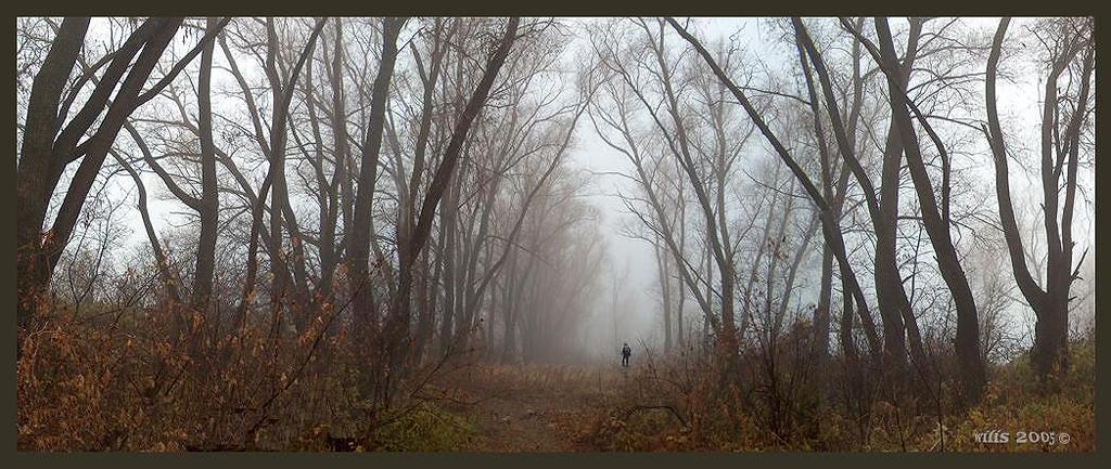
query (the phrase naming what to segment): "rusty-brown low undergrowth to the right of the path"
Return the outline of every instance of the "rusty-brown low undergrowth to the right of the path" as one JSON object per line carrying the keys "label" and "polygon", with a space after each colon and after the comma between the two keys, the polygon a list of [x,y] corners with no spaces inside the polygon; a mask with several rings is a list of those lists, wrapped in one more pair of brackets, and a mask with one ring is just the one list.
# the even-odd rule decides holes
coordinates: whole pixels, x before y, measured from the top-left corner
{"label": "rusty-brown low undergrowth to the right of the path", "polygon": [[[1092,451],[1095,449],[1095,347],[1070,346],[1070,367],[1047,391],[1027,357],[994,367],[984,398],[955,410],[944,402],[940,418],[929,402],[874,399],[863,418],[835,397],[819,401],[805,392],[793,405],[793,422],[773,429],[764,402],[737,386],[724,390],[671,358],[645,367],[622,399],[593,416],[582,440],[602,451]],[[695,368],[698,369],[698,368]],[[834,381],[835,367],[827,370]],[[947,391],[950,386],[944,386]],[[745,405],[748,404],[748,405]],[[977,440],[978,432],[1008,432],[1003,442]],[[1039,437],[1019,441],[1019,432]],[[1051,441],[1045,436],[1052,434]],[[1068,434],[1067,441],[1060,439]],[[1041,441],[1030,441],[1041,439]]]}

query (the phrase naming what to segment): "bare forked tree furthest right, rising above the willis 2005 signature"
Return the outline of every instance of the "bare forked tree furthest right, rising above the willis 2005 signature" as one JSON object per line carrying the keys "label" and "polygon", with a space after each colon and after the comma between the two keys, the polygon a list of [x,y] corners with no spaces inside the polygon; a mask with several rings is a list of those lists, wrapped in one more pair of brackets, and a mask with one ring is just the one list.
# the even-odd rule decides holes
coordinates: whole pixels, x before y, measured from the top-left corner
{"label": "bare forked tree furthest right, rising above the willis 2005 signature", "polygon": [[[999,122],[997,104],[995,82],[1009,23],[1009,18],[1000,20],[988,58],[985,85],[988,125],[984,133],[989,136],[994,156],[995,194],[999,201],[1000,222],[1011,258],[1011,271],[1019,290],[1038,318],[1032,361],[1038,373],[1045,378],[1068,365],[1069,303],[1072,299],[1069,292],[1072,283],[1079,278],[1084,262],[1084,255],[1081,255],[1077,266],[1072,265],[1074,246],[1072,220],[1075,210],[1080,137],[1089,119],[1088,105],[1095,44],[1090,39],[1092,31],[1090,19],[1059,20],[1048,24],[1047,32],[1051,39],[1047,42],[1050,57],[1042,103],[1040,167],[1044,235],[1049,256],[1044,286],[1040,286],[1027,266],[1022,237],[1014,217],[1008,167],[1008,160],[1011,156],[1008,155],[1007,140]],[[1067,72],[1079,72],[1073,80],[1078,88],[1074,96],[1059,95],[1059,80]],[[1067,90],[1071,92],[1071,85]],[[1065,103],[1070,101],[1072,109],[1068,112]],[[1064,177],[1063,183],[1062,177]],[[1062,188],[1065,193],[1063,206],[1060,197]]]}

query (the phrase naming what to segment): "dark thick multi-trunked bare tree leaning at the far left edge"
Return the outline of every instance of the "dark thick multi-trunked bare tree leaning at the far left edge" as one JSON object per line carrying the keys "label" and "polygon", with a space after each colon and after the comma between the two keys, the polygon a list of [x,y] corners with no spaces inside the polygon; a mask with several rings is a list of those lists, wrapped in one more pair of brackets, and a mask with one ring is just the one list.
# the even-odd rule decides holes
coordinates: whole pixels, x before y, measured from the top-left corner
{"label": "dark thick multi-trunked bare tree leaning at the far left edge", "polygon": [[[209,31],[153,88],[143,91],[142,86],[181,22],[181,18],[149,19],[131,33],[110,59],[106,57],[99,61],[93,69],[108,65],[107,69],[80,111],[64,126],[62,123],[80,89],[92,78],[91,73],[84,74],[84,80],[79,80],[63,99],[62,92],[78,60],[89,19],[67,18],[59,27],[51,52],[34,78],[24,124],[27,132],[20,149],[17,264],[21,275],[18,282],[20,302],[17,315],[21,327],[30,325],[34,309],[44,300],[43,293],[49,288],[50,275],[58,257],[72,235],[89,190],[127,118],[166,88],[201,52],[203,45],[213,40],[220,29]],[[134,63],[131,63],[132,59]],[[109,103],[109,95],[117,86],[120,86],[120,91]],[[106,110],[107,114],[99,121],[92,135],[79,143]],[[77,160],[81,160],[81,163],[70,180],[54,222],[43,235],[41,230],[50,197],[62,172]]]}

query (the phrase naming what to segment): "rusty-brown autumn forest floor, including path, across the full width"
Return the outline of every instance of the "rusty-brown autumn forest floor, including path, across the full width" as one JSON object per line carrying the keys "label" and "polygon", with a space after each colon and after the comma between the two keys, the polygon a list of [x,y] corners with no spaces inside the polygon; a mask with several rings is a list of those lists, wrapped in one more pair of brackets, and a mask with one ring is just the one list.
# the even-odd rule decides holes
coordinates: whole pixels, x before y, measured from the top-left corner
{"label": "rusty-brown autumn forest floor, including path, across the full width", "polygon": [[[943,415],[940,426],[931,407],[913,398],[875,398],[859,420],[838,394],[837,364],[823,370],[824,387],[788,395],[793,400],[780,402],[787,414],[773,426],[762,388],[723,384],[693,353],[643,357],[628,369],[453,363],[371,420],[360,359],[346,351],[353,347],[342,332],[316,350],[306,337],[247,334],[204,355],[167,340],[164,324],[156,316],[130,324],[63,318],[26,335],[19,449],[1091,451],[1095,445],[1090,340],[1072,345],[1058,392],[1043,392],[1018,359],[992,370],[982,402]],[[1007,431],[1010,441],[975,441],[988,430]],[[1070,438],[1023,445],[1019,431]]]}

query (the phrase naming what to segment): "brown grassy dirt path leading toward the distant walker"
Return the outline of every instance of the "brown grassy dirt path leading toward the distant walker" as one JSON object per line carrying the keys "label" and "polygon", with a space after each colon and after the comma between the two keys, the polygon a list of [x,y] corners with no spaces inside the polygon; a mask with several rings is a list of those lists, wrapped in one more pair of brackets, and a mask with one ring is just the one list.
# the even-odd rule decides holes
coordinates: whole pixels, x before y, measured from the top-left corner
{"label": "brown grassy dirt path leading toward the distant walker", "polygon": [[469,451],[589,451],[582,435],[622,377],[615,366],[477,367],[452,383],[468,402],[444,407],[477,427]]}

